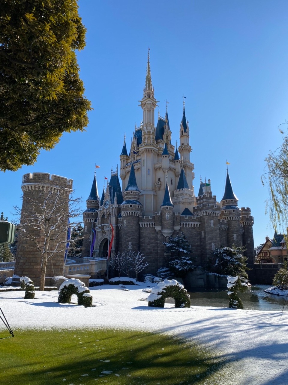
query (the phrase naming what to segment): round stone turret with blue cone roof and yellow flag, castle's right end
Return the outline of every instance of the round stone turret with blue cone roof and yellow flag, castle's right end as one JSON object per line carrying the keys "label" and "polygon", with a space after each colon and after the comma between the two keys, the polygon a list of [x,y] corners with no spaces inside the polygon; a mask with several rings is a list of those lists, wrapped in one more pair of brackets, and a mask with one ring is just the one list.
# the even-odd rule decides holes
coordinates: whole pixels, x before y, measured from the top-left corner
{"label": "round stone turret with blue cone roof and yellow flag, castle's right end", "polygon": [[241,221],[241,210],[238,208],[238,198],[233,192],[227,169],[226,184],[223,198],[221,200],[220,219],[227,221],[227,244],[228,247],[243,246],[243,226]]}

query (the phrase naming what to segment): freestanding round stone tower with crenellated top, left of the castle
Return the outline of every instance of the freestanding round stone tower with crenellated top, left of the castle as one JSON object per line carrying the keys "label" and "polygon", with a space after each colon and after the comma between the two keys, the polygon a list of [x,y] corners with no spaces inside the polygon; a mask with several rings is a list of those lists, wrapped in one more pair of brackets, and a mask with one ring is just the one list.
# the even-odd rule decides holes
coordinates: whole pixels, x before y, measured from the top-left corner
{"label": "freestanding round stone tower with crenellated top, left of the castle", "polygon": [[[35,285],[38,284],[41,275],[41,254],[33,238],[40,248],[45,247],[41,226],[45,226],[46,223],[49,226],[55,224],[48,250],[58,248],[58,252],[48,261],[46,277],[64,273],[68,201],[72,182],[72,179],[40,172],[23,176],[20,226],[23,226],[25,233],[19,234],[14,274],[20,277],[28,276]],[[43,216],[45,221],[39,219]],[[31,237],[25,234],[31,234]]]}

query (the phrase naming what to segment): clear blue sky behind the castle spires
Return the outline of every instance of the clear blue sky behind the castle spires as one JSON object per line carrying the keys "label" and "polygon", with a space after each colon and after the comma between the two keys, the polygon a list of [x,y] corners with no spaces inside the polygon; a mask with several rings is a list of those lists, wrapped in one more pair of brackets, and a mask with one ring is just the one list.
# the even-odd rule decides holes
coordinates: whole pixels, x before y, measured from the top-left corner
{"label": "clear blue sky behind the castle spires", "polygon": [[[94,166],[98,192],[116,170],[124,133],[127,147],[140,125],[150,47],[152,83],[160,114],[168,114],[172,142],[179,141],[182,96],[189,120],[194,186],[211,179],[220,201],[226,159],[239,207],[254,216],[255,245],[273,236],[265,215],[267,187],[261,175],[265,156],[281,144],[278,125],[288,119],[288,2],[286,0],[79,0],[87,28],[78,54],[85,95],[91,100],[84,133],[64,134],[34,166],[1,172],[0,211],[13,219],[22,205],[22,175],[50,172],[73,179],[75,196],[85,200]],[[156,110],[157,117],[158,109]],[[129,151],[129,149],[128,149]]]}

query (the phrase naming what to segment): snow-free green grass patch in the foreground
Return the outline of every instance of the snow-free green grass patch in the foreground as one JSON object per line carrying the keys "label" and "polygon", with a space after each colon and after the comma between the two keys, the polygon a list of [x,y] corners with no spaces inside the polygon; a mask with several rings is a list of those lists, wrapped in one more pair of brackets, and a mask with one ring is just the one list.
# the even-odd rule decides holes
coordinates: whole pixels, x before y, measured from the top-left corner
{"label": "snow-free green grass patch in the foreground", "polygon": [[0,330],[5,385],[221,383],[222,364],[209,351],[166,335],[124,330],[15,330],[14,335]]}

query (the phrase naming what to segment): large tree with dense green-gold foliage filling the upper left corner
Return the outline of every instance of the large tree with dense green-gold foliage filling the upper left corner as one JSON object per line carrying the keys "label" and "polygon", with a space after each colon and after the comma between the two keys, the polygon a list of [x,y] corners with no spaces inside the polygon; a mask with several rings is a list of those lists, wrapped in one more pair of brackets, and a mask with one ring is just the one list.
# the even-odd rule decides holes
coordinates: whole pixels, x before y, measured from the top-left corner
{"label": "large tree with dense green-gold foliage filling the upper left corner", "polygon": [[85,32],[76,0],[1,2],[1,170],[33,164],[63,132],[87,126],[91,104],[75,53]]}

